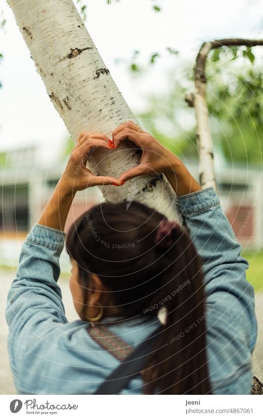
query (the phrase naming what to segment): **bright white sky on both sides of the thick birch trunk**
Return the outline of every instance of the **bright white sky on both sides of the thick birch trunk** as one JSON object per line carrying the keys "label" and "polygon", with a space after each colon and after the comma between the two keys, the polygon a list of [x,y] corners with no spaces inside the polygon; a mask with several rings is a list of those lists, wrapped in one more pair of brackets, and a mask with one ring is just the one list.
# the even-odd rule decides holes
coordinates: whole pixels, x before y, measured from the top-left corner
{"label": "bright white sky on both sides of the thick birch trunk", "polygon": [[[86,27],[133,113],[144,108],[150,93],[165,95],[168,71],[177,74],[182,64],[192,66],[203,41],[263,37],[263,0],[82,3],[87,4]],[[154,12],[153,4],[162,6],[162,12]],[[68,133],[36,73],[11,9],[5,0],[0,5],[7,21],[0,30],[0,150],[39,144],[48,158],[54,144],[59,149]],[[165,52],[167,46],[179,55]],[[153,52],[162,53],[146,77],[132,77],[127,71],[134,50],[140,50],[141,63]]]}

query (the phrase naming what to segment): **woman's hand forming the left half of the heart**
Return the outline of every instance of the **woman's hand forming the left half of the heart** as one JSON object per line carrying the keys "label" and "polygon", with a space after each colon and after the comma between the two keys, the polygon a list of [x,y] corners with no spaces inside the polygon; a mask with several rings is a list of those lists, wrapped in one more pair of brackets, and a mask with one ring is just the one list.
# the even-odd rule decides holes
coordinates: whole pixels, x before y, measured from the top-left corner
{"label": "woman's hand forming the left half of the heart", "polygon": [[116,178],[96,176],[86,167],[87,160],[95,150],[99,148],[111,150],[113,147],[106,135],[99,132],[82,131],[60,179],[60,189],[75,193],[77,190],[84,190],[91,186],[118,185]]}

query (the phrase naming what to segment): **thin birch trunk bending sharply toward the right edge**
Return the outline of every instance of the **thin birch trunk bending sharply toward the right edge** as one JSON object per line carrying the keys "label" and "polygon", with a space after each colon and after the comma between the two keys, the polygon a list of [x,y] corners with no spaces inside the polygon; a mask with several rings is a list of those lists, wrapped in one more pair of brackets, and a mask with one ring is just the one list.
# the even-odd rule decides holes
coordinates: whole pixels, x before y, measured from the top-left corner
{"label": "thin birch trunk bending sharply toward the right edge", "polygon": [[[202,188],[213,186],[216,189],[214,173],[213,140],[209,127],[208,107],[206,101],[205,64],[209,52],[222,46],[256,46],[263,45],[263,39],[229,38],[204,42],[197,54],[194,69],[195,91],[186,95],[186,102],[194,106],[196,114],[197,150],[199,153],[199,182]],[[263,371],[256,353],[252,355],[253,394],[263,394]]]}

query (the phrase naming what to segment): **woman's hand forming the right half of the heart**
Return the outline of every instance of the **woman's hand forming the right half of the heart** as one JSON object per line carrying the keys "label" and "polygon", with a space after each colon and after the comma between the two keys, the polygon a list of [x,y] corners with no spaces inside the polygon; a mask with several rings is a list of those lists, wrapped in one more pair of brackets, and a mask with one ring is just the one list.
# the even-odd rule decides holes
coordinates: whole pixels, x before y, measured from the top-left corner
{"label": "woman's hand forming the right half of the heart", "polygon": [[140,175],[174,173],[175,167],[182,164],[178,157],[162,146],[151,134],[142,130],[138,131],[138,125],[132,121],[127,121],[112,132],[115,149],[119,147],[123,140],[128,138],[142,150],[140,163],[122,173],[118,179],[120,185]]}

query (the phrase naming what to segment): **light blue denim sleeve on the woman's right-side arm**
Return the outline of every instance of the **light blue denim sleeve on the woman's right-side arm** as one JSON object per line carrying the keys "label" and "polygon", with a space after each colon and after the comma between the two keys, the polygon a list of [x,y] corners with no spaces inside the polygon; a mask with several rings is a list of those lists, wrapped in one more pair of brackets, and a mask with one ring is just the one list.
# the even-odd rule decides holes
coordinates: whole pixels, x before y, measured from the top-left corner
{"label": "light blue denim sleeve on the woman's right-side arm", "polygon": [[240,256],[241,246],[216,192],[209,187],[179,196],[178,203],[203,262],[206,304],[218,309],[220,315],[224,313],[252,352],[257,339],[257,320],[254,289],[245,274],[249,265]]}

